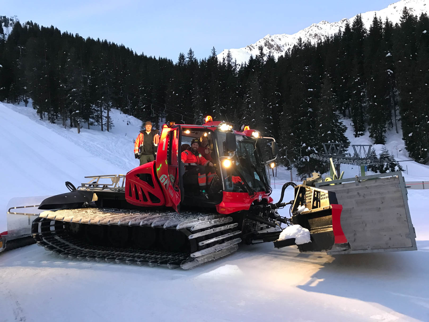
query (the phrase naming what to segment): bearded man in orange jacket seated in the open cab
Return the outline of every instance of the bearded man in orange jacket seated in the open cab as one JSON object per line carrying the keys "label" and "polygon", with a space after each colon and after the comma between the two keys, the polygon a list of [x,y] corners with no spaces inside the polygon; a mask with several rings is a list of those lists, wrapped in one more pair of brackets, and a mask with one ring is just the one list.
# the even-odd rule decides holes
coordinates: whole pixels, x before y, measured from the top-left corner
{"label": "bearded man in orange jacket seated in the open cab", "polygon": [[[211,180],[213,180],[215,176],[215,170],[213,173],[211,172],[214,164],[210,161],[206,160],[199,152],[199,139],[193,139],[190,143],[190,149],[185,150],[181,153],[181,160],[186,167],[186,173],[184,176],[190,178],[198,174],[198,186],[199,189],[206,198],[208,198],[207,194],[207,185],[210,185]],[[196,167],[193,167],[196,166]]]}

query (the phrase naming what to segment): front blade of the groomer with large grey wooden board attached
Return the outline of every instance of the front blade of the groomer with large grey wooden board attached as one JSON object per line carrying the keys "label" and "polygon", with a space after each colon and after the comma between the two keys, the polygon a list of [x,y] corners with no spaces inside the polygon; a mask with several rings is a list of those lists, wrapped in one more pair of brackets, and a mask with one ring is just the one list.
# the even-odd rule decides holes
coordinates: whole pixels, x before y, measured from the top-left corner
{"label": "front blade of the groomer with large grey wooden board attached", "polygon": [[[314,191],[324,189],[320,191],[335,193],[338,201],[331,200],[329,207],[325,201],[326,209],[315,212],[310,204],[309,211],[292,217],[294,223],[310,230],[311,243],[299,245],[300,251],[350,254],[417,250],[401,172],[316,182],[315,186],[305,187],[307,200],[311,194],[317,196]],[[319,207],[326,198],[327,194],[318,195]]]}

